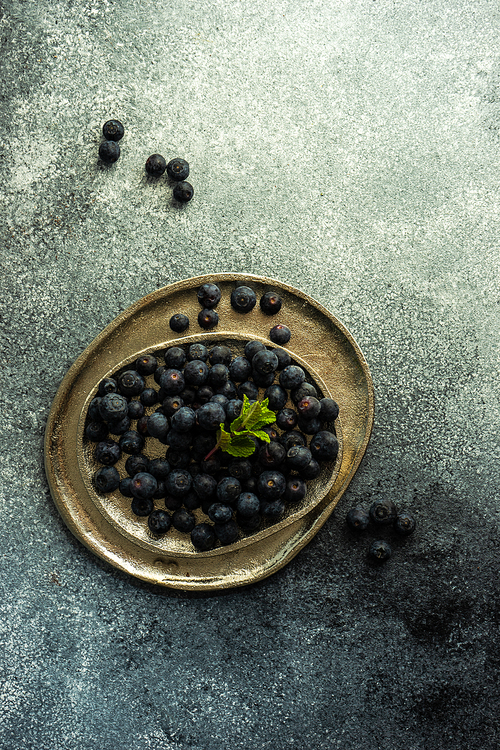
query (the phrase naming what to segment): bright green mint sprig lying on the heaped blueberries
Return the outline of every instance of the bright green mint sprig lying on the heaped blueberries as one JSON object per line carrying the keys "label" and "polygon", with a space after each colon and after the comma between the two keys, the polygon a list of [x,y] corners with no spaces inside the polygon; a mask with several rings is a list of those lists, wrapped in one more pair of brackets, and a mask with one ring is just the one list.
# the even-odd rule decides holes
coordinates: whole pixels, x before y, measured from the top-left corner
{"label": "bright green mint sprig lying on the heaped blueberries", "polygon": [[276,421],[276,414],[268,407],[269,399],[264,401],[255,401],[253,404],[248,400],[248,396],[243,396],[243,406],[241,414],[231,422],[229,432],[224,429],[221,422],[220,429],[217,432],[217,444],[212,448],[205,460],[210,458],[219,448],[230,456],[236,458],[247,458],[255,451],[255,443],[252,437],[263,440],[266,443],[271,438],[264,432],[263,427],[273,424]]}

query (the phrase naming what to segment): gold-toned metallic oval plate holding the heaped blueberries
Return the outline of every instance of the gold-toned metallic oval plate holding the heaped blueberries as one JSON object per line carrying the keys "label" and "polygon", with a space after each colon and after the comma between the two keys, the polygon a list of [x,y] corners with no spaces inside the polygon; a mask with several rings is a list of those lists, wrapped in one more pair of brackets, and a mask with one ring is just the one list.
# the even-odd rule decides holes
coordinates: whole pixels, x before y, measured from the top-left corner
{"label": "gold-toned metallic oval plate holding the heaped blueberries", "polygon": [[[219,325],[208,332],[198,326],[200,306],[196,297],[198,287],[207,281],[216,283],[222,291],[217,306]],[[283,299],[281,312],[267,316],[257,304],[251,313],[236,313],[230,294],[241,284],[251,286],[258,299],[268,290],[277,291]],[[191,321],[185,335],[169,327],[170,317],[177,312],[188,315]],[[339,456],[335,464],[323,467],[318,479],[308,482],[308,495],[302,503],[288,509],[278,523],[243,536],[232,545],[196,552],[189,537],[175,530],[164,537],[150,534],[145,520],[134,516],[130,501],[119,492],[100,495],[95,491],[92,475],[97,467],[83,430],[88,405],[103,378],[141,353],[175,344],[226,341],[238,352],[245,341],[258,338],[273,346],[269,331],[278,322],[292,331],[290,343],[284,348],[308,372],[308,379],[340,406],[335,425]],[[121,313],[83,352],[52,404],[45,433],[45,468],[64,521],[95,554],[149,583],[185,590],[229,588],[271,575],[312,539],[354,476],[372,424],[373,384],[368,366],[338,320],[303,292],[278,281],[214,274],[180,281],[149,294]],[[157,448],[157,455],[161,455],[162,447],[157,444]],[[154,455],[149,440],[145,452]],[[123,472],[120,474],[123,476]]]}

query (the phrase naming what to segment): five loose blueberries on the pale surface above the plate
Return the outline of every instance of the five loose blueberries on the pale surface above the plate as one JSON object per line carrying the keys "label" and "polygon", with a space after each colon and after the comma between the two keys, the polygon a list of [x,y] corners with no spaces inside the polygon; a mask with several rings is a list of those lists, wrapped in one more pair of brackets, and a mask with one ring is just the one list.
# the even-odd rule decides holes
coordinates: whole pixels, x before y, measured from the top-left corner
{"label": "five loose blueberries on the pale surface above the plate", "polygon": [[[108,120],[102,127],[105,140],[99,146],[99,157],[106,164],[114,164],[120,158],[120,141],[125,128],[119,120]],[[187,203],[194,195],[194,188],[186,182],[189,176],[189,164],[184,159],[172,159],[167,162],[160,154],[152,154],[146,160],[146,172],[150,177],[161,177],[165,172],[176,183],[174,198],[180,203]]]}

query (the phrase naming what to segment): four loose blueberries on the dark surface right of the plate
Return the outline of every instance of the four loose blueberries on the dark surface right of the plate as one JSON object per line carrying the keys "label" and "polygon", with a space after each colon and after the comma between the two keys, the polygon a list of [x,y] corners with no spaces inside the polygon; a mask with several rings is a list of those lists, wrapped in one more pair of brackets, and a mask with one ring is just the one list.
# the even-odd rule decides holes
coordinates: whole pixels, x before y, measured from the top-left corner
{"label": "four loose blueberries on the dark surface right of the plate", "polygon": [[[356,505],[348,512],[346,522],[349,528],[361,533],[365,531],[370,523],[377,528],[394,529],[401,536],[413,534],[416,527],[415,519],[407,511],[398,511],[392,500],[385,497],[377,497],[369,508]],[[383,563],[392,555],[392,548],[385,539],[374,540],[368,549],[368,557],[376,563]]]}

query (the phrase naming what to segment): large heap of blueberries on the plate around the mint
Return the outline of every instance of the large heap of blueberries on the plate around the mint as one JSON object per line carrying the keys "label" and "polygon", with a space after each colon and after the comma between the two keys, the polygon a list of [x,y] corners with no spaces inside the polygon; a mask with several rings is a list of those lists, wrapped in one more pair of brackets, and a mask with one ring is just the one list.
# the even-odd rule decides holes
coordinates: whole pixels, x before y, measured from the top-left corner
{"label": "large heap of blueberries on the plate around the mint", "polygon": [[[240,295],[235,296],[238,303]],[[269,298],[273,309],[267,308],[268,314],[273,314],[281,299],[269,292],[261,308]],[[198,299],[203,310],[213,310],[220,290],[204,284]],[[119,490],[130,498],[132,512],[147,517],[153,535],[173,527],[190,533],[200,551],[217,542],[232,544],[240,531],[251,533],[279,520],[288,506],[304,499],[307,482],[319,476],[321,464],[337,458],[338,405],[307,382],[285,349],[252,340],[243,355],[233,356],[224,343],[210,350],[195,343],[171,346],[162,356],[165,364],[153,354],[141,355],[102,380],[85,425],[101,464],[94,475],[96,489]],[[244,396],[250,402],[268,399],[276,414],[275,424],[265,428],[270,442],[252,438],[255,451],[248,458],[214,451],[220,424],[229,430]],[[150,440],[166,446],[160,458],[146,455]],[[126,476],[116,468],[123,454]],[[164,507],[155,507],[155,501]],[[208,520],[197,522],[197,509]]]}

